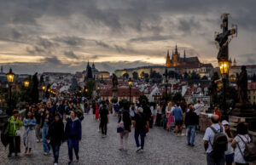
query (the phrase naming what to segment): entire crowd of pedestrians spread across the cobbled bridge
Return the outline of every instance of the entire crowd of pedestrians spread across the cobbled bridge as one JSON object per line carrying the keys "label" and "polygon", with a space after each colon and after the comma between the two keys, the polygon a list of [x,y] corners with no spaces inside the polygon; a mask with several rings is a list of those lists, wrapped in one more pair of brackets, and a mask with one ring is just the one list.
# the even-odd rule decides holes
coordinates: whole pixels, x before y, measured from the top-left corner
{"label": "entire crowd of pedestrians spread across the cobbled bridge", "polygon": [[[76,162],[79,162],[79,142],[82,139],[84,114],[91,113],[98,121],[98,131],[102,138],[107,136],[109,116],[117,117],[117,133],[119,133],[120,151],[128,150],[128,138],[134,128],[134,140],[137,152],[143,152],[145,137],[149,128],[163,127],[176,136],[186,135],[187,145],[195,146],[196,130],[199,129],[199,115],[204,108],[201,101],[195,105],[187,105],[185,101],[165,101],[148,103],[143,100],[139,104],[125,101],[111,103],[108,100],[84,100],[70,98],[67,100],[48,100],[37,105],[26,104],[26,117],[22,120],[19,111],[13,111],[8,120],[5,134],[9,134],[9,157],[20,152],[20,137],[25,145],[25,154],[32,152],[35,142],[43,142],[44,155],[53,151],[54,163],[58,163],[61,144],[67,141],[69,162],[73,163],[73,151]],[[243,157],[246,143],[251,141],[244,123],[237,126],[236,137],[231,134],[230,123],[221,121],[221,113],[216,107],[212,115],[212,126],[207,128],[203,137],[207,151],[207,164],[248,164]],[[21,135],[20,128],[24,126]],[[183,131],[185,129],[185,131]],[[185,134],[183,134],[185,133]],[[218,146],[218,138],[222,137],[227,148]],[[226,139],[225,139],[226,138]],[[221,138],[219,138],[221,139]],[[225,141],[226,140],[226,141]],[[217,141],[217,142],[216,142]],[[217,144],[217,145],[216,145]],[[224,143],[223,143],[224,144]]]}

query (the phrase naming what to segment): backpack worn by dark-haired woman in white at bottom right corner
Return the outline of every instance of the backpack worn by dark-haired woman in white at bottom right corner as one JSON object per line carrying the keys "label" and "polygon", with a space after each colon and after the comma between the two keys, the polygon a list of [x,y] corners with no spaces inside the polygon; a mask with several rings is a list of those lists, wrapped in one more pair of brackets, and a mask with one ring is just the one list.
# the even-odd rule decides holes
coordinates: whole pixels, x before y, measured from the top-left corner
{"label": "backpack worn by dark-haired woman in white at bottom right corner", "polygon": [[245,144],[245,149],[243,151],[243,153],[241,152],[241,148],[238,145],[238,148],[241,152],[241,156],[243,156],[244,160],[247,162],[253,162],[254,160],[256,160],[256,145],[252,142],[249,142],[249,139],[247,138],[247,142],[245,142],[241,136],[237,135],[241,141]]}

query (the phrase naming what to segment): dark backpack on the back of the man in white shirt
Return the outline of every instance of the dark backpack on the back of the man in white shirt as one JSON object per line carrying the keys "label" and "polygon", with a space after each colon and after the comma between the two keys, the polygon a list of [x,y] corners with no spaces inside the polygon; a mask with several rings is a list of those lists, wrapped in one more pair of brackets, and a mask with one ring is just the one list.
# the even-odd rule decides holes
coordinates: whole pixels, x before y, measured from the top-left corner
{"label": "dark backpack on the back of the man in white shirt", "polygon": [[223,153],[224,151],[228,150],[228,139],[226,134],[223,133],[223,127],[220,127],[220,131],[218,133],[218,131],[213,128],[212,126],[210,128],[212,128],[212,131],[214,133],[214,138],[213,138],[213,144],[212,145],[212,150],[215,153]]}

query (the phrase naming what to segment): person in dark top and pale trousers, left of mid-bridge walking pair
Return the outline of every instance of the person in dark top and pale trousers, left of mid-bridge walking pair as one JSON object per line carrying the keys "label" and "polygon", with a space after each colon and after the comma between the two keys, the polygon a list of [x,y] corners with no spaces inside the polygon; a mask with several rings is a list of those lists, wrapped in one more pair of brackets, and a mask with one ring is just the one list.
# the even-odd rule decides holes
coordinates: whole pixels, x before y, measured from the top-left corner
{"label": "person in dark top and pale trousers, left of mid-bridge walking pair", "polygon": [[131,132],[131,117],[129,114],[129,106],[125,108],[125,111],[119,117],[119,122],[123,122],[125,126],[125,130],[120,133],[120,148],[119,150],[127,150],[128,145],[128,137],[129,133]]}

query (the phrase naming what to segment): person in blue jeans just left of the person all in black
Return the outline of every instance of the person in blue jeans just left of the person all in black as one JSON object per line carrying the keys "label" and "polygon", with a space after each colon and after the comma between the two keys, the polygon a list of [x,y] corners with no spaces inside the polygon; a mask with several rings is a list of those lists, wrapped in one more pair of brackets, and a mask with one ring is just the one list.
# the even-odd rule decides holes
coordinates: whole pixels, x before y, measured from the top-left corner
{"label": "person in blue jeans just left of the person all in black", "polygon": [[43,137],[43,145],[44,145],[44,156],[49,155],[49,144],[47,143],[47,139],[45,136],[48,134],[49,124],[52,122],[52,117],[48,109],[44,111],[44,117],[42,122],[42,137]]}

